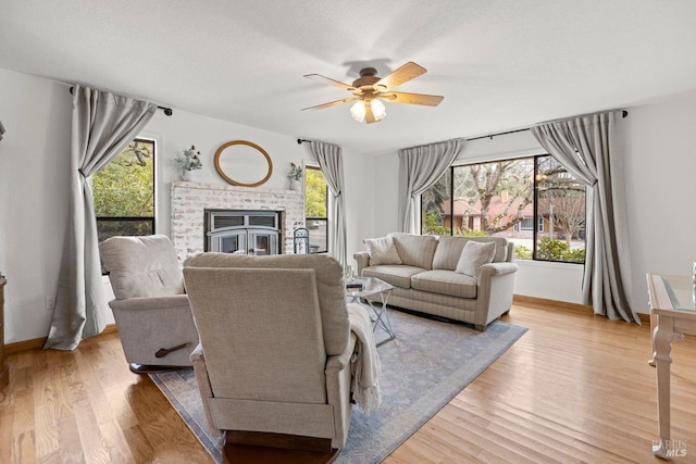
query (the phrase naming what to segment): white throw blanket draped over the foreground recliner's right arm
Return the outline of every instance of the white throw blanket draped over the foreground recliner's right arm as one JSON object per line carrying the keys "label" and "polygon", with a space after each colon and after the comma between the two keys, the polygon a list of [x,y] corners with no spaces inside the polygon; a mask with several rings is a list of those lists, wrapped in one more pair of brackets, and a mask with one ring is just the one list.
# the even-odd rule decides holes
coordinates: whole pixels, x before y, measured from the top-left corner
{"label": "white throw blanket draped over the foreground recliner's right arm", "polygon": [[356,404],[365,413],[380,407],[382,394],[380,392],[380,355],[374,344],[372,321],[368,311],[358,304],[348,304],[350,330],[358,338],[356,350],[351,358],[352,398]]}

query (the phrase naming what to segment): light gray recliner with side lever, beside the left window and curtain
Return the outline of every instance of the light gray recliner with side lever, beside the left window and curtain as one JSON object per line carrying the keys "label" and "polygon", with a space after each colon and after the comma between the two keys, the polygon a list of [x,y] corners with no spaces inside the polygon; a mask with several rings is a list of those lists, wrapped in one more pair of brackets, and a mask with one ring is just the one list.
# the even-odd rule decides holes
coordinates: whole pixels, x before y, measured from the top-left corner
{"label": "light gray recliner with side lever, beside the left window and curtain", "polygon": [[112,237],[99,244],[99,252],[115,297],[109,306],[130,371],[190,366],[198,331],[170,239]]}

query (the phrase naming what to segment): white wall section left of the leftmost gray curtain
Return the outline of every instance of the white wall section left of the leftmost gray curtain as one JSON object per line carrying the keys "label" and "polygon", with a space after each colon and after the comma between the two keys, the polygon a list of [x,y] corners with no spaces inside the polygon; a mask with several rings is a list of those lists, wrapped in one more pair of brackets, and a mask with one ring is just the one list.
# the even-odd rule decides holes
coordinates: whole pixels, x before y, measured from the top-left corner
{"label": "white wall section left of the leftmost gray curtain", "polygon": [[67,216],[71,95],[50,80],[0,70],[0,271],[7,342],[44,337]]}

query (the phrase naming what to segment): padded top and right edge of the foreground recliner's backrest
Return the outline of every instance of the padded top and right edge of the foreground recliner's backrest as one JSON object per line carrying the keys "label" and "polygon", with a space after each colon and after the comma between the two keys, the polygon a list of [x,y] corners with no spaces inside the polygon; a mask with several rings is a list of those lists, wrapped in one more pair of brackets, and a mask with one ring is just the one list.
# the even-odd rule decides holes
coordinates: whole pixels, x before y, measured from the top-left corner
{"label": "padded top and right edge of the foreground recliner's backrest", "polygon": [[348,347],[350,323],[346,310],[343,267],[338,261],[326,254],[249,256],[229,253],[198,253],[187,259],[184,266],[314,269],[326,353],[341,354]]}

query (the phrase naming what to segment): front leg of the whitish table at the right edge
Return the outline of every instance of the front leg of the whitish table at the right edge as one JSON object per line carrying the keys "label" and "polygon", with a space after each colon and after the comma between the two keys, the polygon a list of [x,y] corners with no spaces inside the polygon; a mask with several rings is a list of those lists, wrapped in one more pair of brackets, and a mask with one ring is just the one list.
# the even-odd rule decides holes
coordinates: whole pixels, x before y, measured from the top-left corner
{"label": "front leg of the whitish table at the right edge", "polygon": [[652,446],[652,454],[668,460],[670,447],[670,367],[674,319],[658,315],[652,335],[655,347],[652,359],[657,369],[657,419],[660,442]]}

